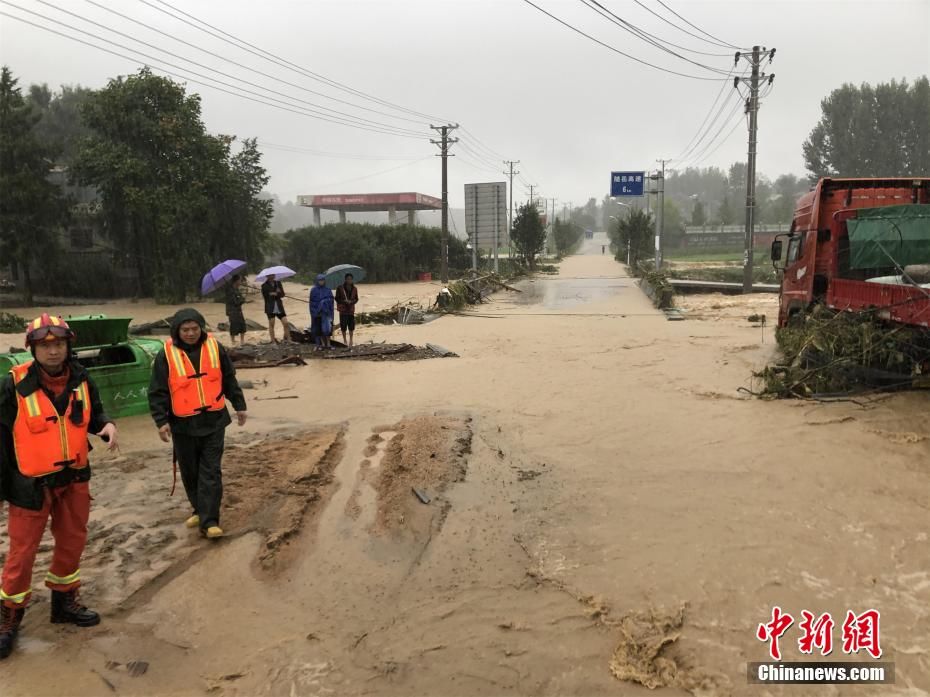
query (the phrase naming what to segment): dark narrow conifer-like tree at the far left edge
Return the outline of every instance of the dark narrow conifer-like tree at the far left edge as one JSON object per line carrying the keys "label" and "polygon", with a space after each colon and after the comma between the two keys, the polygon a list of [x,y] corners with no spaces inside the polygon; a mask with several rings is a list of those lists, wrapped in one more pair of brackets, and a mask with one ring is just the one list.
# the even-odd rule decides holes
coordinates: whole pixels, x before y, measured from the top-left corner
{"label": "dark narrow conifer-like tree at the far left edge", "polygon": [[36,136],[41,115],[26,101],[18,81],[0,71],[0,257],[22,274],[23,301],[33,304],[33,272],[57,250],[67,201],[49,181],[55,152]]}

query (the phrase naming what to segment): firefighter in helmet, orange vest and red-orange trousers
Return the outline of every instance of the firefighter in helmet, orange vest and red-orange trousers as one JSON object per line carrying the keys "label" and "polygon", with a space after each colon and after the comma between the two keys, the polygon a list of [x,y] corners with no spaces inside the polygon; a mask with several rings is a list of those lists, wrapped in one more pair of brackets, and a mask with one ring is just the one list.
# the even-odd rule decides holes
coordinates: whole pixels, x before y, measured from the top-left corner
{"label": "firefighter in helmet, orange vest and red-orange trousers", "polygon": [[88,433],[117,447],[87,371],[74,360],[74,332],[47,313],[28,325],[34,360],[0,381],[0,499],[9,502],[10,551],[0,581],[0,658],[13,650],[29,602],[32,566],[49,517],[55,549],[45,585],[52,622],[92,627],[100,616],[78,600],[90,515]]}

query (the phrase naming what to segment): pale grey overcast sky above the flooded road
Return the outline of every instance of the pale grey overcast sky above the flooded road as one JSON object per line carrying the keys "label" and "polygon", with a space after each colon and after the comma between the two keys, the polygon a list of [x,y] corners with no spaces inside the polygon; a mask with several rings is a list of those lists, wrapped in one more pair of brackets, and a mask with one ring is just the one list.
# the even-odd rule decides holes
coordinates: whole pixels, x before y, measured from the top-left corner
{"label": "pale grey overcast sky above the flooded road", "polygon": [[[449,167],[453,206],[462,205],[466,182],[503,180],[504,158],[521,161],[514,187],[517,199],[526,197],[525,184],[538,185],[542,196],[576,205],[590,196],[600,198],[607,192],[611,169],[650,169],[657,166],[656,158],[681,155],[698,133],[723,84],[678,77],[638,64],[572,32],[523,0],[167,1],[306,71],[430,115],[435,124],[440,123],[438,119],[460,123],[464,130],[454,135],[463,140],[453,146],[458,156],[450,160]],[[172,11],[159,0],[145,0],[150,4],[142,0],[94,2],[215,55],[133,24],[88,0],[0,0],[3,12],[103,43],[14,6],[26,8],[159,59],[120,58],[3,16],[0,60],[23,85],[80,83],[95,88],[143,63],[151,64],[156,72],[157,65],[186,72],[169,68],[170,61],[257,92],[263,99],[284,100],[294,110],[318,108],[312,103],[377,124],[412,129],[420,136],[431,133],[429,118],[400,112],[265,61],[154,9],[152,5]],[[723,77],[648,46],[580,1],[534,2],[641,60],[691,75]],[[642,0],[641,4],[633,0],[599,2],[665,41],[726,54],[704,56],[672,49],[698,63],[723,71],[733,65],[732,49],[683,33],[676,26],[704,36],[657,0]],[[777,48],[774,62],[765,68],[776,75],[775,82],[759,115],[758,167],[771,177],[785,172],[804,174],[801,144],[819,118],[820,100],[832,89],[844,82],[913,80],[930,72],[928,0],[668,0],[666,5],[724,43]],[[143,47],[62,9],[157,48]],[[112,45],[110,48],[127,53]],[[180,58],[166,56],[162,50]],[[195,67],[191,61],[233,77]],[[742,62],[739,70],[745,65]],[[199,78],[190,72],[187,77],[188,88],[202,95],[204,120],[211,132],[254,136],[267,144],[263,150],[271,175],[268,188],[284,200],[311,193],[412,190],[440,194],[440,163],[433,156],[437,148],[424,138],[327,123],[195,84]],[[736,126],[738,113],[726,122],[730,104],[735,104],[732,92],[732,82],[723,85],[721,102],[708,119],[714,125],[694,151],[701,157],[670,166],[690,161],[726,167],[745,159],[746,130]],[[724,101],[727,99],[734,101]],[[721,103],[724,111],[714,121]],[[727,124],[736,130],[731,131],[733,126]],[[725,139],[728,133],[732,135]],[[705,148],[708,144],[711,147]],[[320,152],[371,159],[328,157]]]}

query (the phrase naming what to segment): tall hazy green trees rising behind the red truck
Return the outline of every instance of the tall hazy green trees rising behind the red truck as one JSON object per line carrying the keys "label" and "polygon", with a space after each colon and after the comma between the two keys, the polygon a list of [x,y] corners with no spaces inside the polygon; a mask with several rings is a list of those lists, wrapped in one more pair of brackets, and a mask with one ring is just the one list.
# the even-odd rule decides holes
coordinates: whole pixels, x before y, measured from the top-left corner
{"label": "tall hazy green trees rising behind the red truck", "polygon": [[930,82],[923,76],[875,87],[844,84],[820,103],[820,121],[804,142],[813,180],[891,177],[930,171]]}

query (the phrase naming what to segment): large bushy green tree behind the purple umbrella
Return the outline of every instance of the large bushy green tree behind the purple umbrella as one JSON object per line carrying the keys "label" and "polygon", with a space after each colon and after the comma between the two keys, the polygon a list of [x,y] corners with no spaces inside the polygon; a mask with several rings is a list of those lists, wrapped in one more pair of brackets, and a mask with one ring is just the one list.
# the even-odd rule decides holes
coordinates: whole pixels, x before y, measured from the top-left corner
{"label": "large bushy green tree behind the purple umbrella", "polygon": [[267,182],[254,141],[231,158],[234,139],[207,134],[200,97],[147,68],[110,80],[81,113],[93,134],[73,173],[97,188],[140,294],[183,302],[216,262],[261,262],[269,212],[254,201]]}

